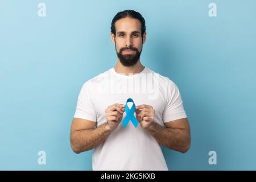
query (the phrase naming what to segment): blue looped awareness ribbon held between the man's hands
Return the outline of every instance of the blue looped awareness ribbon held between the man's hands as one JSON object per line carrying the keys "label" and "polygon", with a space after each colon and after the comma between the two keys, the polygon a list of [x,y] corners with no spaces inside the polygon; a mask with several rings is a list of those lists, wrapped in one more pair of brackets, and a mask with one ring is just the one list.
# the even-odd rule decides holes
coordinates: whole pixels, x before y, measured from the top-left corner
{"label": "blue looped awareness ribbon held between the man's hands", "polygon": [[[131,106],[131,109],[128,107],[127,102],[133,102],[133,106]],[[128,98],[125,104],[125,112],[126,112],[126,117],[123,119],[122,124],[123,127],[126,127],[129,121],[133,123],[135,127],[138,126],[139,122],[138,120],[134,117],[134,112],[135,112],[135,104],[133,99]]]}

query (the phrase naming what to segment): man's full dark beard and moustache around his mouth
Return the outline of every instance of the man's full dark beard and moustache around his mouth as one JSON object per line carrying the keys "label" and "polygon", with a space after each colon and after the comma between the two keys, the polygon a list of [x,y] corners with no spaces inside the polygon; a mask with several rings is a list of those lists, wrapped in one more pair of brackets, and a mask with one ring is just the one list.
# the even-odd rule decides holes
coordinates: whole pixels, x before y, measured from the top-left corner
{"label": "man's full dark beard and moustache around his mouth", "polygon": [[[123,51],[125,51],[126,49],[134,50],[135,53],[129,53],[129,54],[123,55]],[[117,50],[117,48],[115,47],[115,51],[116,50]],[[141,48],[141,52],[142,52],[142,48]],[[122,47],[120,49],[120,51],[117,52],[117,57],[119,58],[122,65],[124,65],[125,67],[132,67],[133,65],[135,65],[138,62],[139,57],[141,56],[141,52],[139,52],[139,50],[135,47],[131,47],[131,46],[130,47]]]}

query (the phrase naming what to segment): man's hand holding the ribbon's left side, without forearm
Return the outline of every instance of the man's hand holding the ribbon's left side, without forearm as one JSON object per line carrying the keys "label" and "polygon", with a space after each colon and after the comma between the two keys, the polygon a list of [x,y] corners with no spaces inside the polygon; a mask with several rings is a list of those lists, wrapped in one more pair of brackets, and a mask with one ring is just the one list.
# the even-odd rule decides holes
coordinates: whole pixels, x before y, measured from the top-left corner
{"label": "man's hand holding the ribbon's left side, without forearm", "polygon": [[107,129],[110,131],[115,130],[123,118],[123,111],[125,111],[125,105],[123,104],[113,104],[108,106],[105,110]]}

